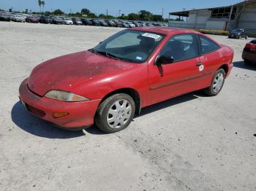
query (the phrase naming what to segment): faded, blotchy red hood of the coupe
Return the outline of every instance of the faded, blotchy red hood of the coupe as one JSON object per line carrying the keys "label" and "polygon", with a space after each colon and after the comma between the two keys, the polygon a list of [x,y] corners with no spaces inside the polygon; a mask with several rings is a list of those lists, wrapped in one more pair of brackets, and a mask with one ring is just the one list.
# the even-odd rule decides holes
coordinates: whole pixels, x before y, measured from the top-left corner
{"label": "faded, blotchy red hood of the coupe", "polygon": [[36,66],[28,79],[28,87],[41,96],[50,90],[72,92],[73,88],[85,82],[110,77],[137,65],[89,51],[77,52]]}

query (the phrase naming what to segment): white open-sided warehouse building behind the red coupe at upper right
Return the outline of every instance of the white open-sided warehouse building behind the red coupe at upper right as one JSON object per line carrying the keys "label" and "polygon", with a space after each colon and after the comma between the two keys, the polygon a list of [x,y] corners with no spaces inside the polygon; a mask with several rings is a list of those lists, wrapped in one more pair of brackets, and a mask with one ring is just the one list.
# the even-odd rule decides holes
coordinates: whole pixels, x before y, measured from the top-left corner
{"label": "white open-sided warehouse building behind the red coupe at upper right", "polygon": [[170,12],[187,21],[170,21],[170,27],[230,31],[245,28],[249,36],[256,36],[256,0],[247,0],[227,7],[192,9]]}

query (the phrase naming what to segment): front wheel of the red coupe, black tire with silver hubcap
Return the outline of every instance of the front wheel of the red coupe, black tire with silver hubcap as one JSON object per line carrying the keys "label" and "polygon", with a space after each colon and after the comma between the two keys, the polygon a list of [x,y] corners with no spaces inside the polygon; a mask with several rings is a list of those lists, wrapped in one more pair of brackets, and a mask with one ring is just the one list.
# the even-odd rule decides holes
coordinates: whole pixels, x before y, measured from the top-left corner
{"label": "front wheel of the red coupe, black tire with silver hubcap", "polygon": [[[124,101],[127,103],[126,106]],[[111,95],[99,105],[94,122],[103,132],[116,133],[127,128],[134,115],[135,101],[125,93],[118,93]]]}

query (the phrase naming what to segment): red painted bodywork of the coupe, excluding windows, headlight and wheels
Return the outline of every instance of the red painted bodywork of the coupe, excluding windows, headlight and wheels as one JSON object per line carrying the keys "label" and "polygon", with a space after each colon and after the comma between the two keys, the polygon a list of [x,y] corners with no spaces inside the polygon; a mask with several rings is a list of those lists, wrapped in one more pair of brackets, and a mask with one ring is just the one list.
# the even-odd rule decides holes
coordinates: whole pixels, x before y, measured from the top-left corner
{"label": "red painted bodywork of the coupe, excluding windows, headlight and wheels", "polygon": [[[44,111],[44,120],[66,128],[76,128],[92,125],[100,101],[115,90],[132,88],[140,95],[140,106],[145,107],[208,87],[219,67],[224,64],[228,66],[227,76],[233,67],[233,50],[218,42],[216,43],[220,48],[215,52],[188,61],[155,66],[154,61],[159,51],[171,36],[186,33],[205,35],[178,28],[147,27],[132,30],[167,36],[145,63],[116,61],[89,51],[64,55],[41,63],[20,85],[20,98],[26,104]],[[203,62],[203,72],[199,71],[197,62]],[[50,90],[76,93],[89,98],[90,101],[68,103],[43,97]],[[54,112],[67,112],[69,115],[56,119],[53,117]]]}

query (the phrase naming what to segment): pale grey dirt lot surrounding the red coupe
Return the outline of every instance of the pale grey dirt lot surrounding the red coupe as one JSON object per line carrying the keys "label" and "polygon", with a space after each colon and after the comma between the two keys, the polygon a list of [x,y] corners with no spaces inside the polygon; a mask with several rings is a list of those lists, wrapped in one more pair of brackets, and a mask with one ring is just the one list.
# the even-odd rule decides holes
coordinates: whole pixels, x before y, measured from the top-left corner
{"label": "pale grey dirt lot surrounding the red coupe", "polygon": [[217,97],[190,93],[143,109],[126,130],[68,132],[18,102],[38,63],[94,47],[118,28],[0,23],[0,190],[256,190],[256,66],[235,50]]}

